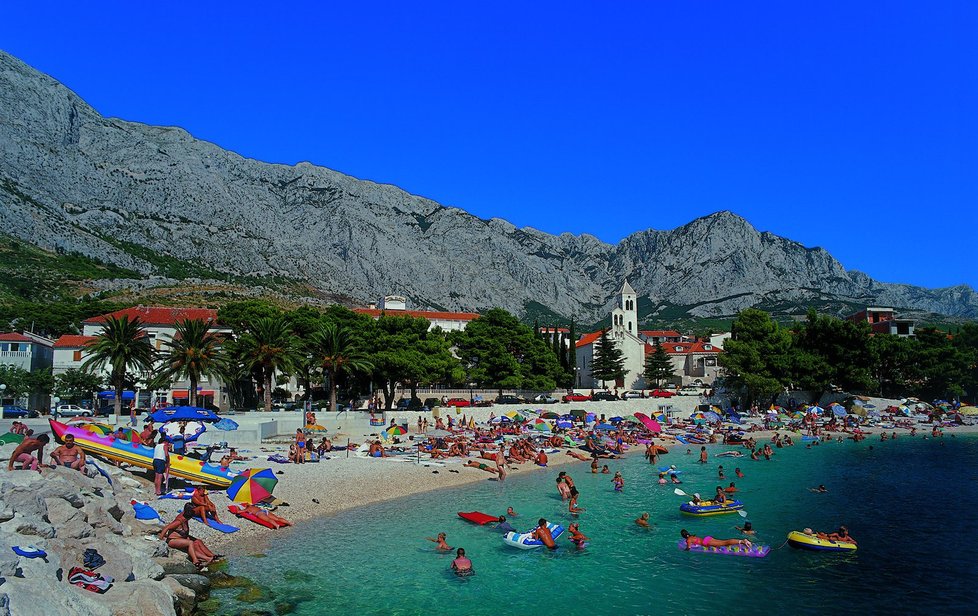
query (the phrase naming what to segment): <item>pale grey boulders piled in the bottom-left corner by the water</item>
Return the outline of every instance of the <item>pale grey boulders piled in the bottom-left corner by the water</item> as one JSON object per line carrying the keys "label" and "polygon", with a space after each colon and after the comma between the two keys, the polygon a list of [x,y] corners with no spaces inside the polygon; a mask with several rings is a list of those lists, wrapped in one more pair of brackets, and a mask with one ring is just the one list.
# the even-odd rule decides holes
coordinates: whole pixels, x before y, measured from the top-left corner
{"label": "pale grey boulders piled in the bottom-left corner by the water", "polygon": [[[0,459],[11,447],[6,450]],[[140,536],[150,527],[132,514],[135,493],[125,487],[124,471],[106,468],[113,477],[109,485],[104,477],[65,468],[44,469],[41,475],[8,472],[5,460],[0,466],[0,615],[169,616],[190,614],[197,598],[206,596],[208,579],[197,575],[185,555],[166,558],[162,542]],[[17,556],[15,545],[37,546],[47,557]],[[105,559],[98,573],[115,580],[105,594],[67,582],[69,569],[82,565],[88,548]],[[171,559],[186,563],[182,575],[167,575],[163,565]]]}

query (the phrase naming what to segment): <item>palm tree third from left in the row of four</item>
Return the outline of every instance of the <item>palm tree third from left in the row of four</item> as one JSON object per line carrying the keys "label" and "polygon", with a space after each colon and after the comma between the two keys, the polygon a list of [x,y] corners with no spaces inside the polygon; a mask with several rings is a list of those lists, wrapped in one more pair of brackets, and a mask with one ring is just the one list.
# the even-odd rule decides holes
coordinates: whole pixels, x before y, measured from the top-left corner
{"label": "palm tree third from left in the row of four", "polygon": [[292,372],[298,350],[292,329],[282,317],[262,317],[248,327],[236,345],[243,367],[260,372],[265,411],[272,410],[272,377],[275,372]]}

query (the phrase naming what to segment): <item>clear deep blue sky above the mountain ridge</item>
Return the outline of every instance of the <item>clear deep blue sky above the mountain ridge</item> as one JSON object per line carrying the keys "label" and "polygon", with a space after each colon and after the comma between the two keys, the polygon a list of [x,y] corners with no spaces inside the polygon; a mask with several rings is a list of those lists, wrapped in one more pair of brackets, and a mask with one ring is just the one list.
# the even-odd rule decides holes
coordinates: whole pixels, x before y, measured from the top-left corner
{"label": "clear deep blue sky above the mountain ridge", "polygon": [[0,48],[104,115],[551,233],[731,210],[978,287],[975,2],[30,4]]}

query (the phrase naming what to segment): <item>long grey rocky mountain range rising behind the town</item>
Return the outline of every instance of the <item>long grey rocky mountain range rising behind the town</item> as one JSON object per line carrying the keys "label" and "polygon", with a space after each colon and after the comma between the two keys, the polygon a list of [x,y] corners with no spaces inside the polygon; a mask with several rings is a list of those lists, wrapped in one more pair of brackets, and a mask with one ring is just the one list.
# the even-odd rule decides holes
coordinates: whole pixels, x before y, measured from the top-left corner
{"label": "long grey rocky mountain range rising behind the town", "polygon": [[879,283],[729,212],[615,246],[308,163],[247,159],[180,128],[104,118],[3,52],[0,225],[143,276],[109,288],[212,280],[359,303],[397,292],[417,307],[542,306],[586,321],[607,314],[628,278],[649,315],[872,303],[978,317],[970,287]]}

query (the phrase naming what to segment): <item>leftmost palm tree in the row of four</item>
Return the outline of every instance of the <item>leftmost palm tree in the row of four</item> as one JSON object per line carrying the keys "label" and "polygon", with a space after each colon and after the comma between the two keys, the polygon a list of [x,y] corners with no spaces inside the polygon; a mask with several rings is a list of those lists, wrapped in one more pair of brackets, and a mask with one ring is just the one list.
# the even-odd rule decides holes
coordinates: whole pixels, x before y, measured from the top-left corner
{"label": "leftmost palm tree in the row of four", "polygon": [[82,364],[86,372],[94,372],[109,366],[109,384],[115,389],[113,407],[116,418],[122,415],[122,390],[126,384],[126,370],[149,372],[156,359],[156,351],[150,344],[139,317],[110,316],[102,325],[86,349],[88,359]]}

